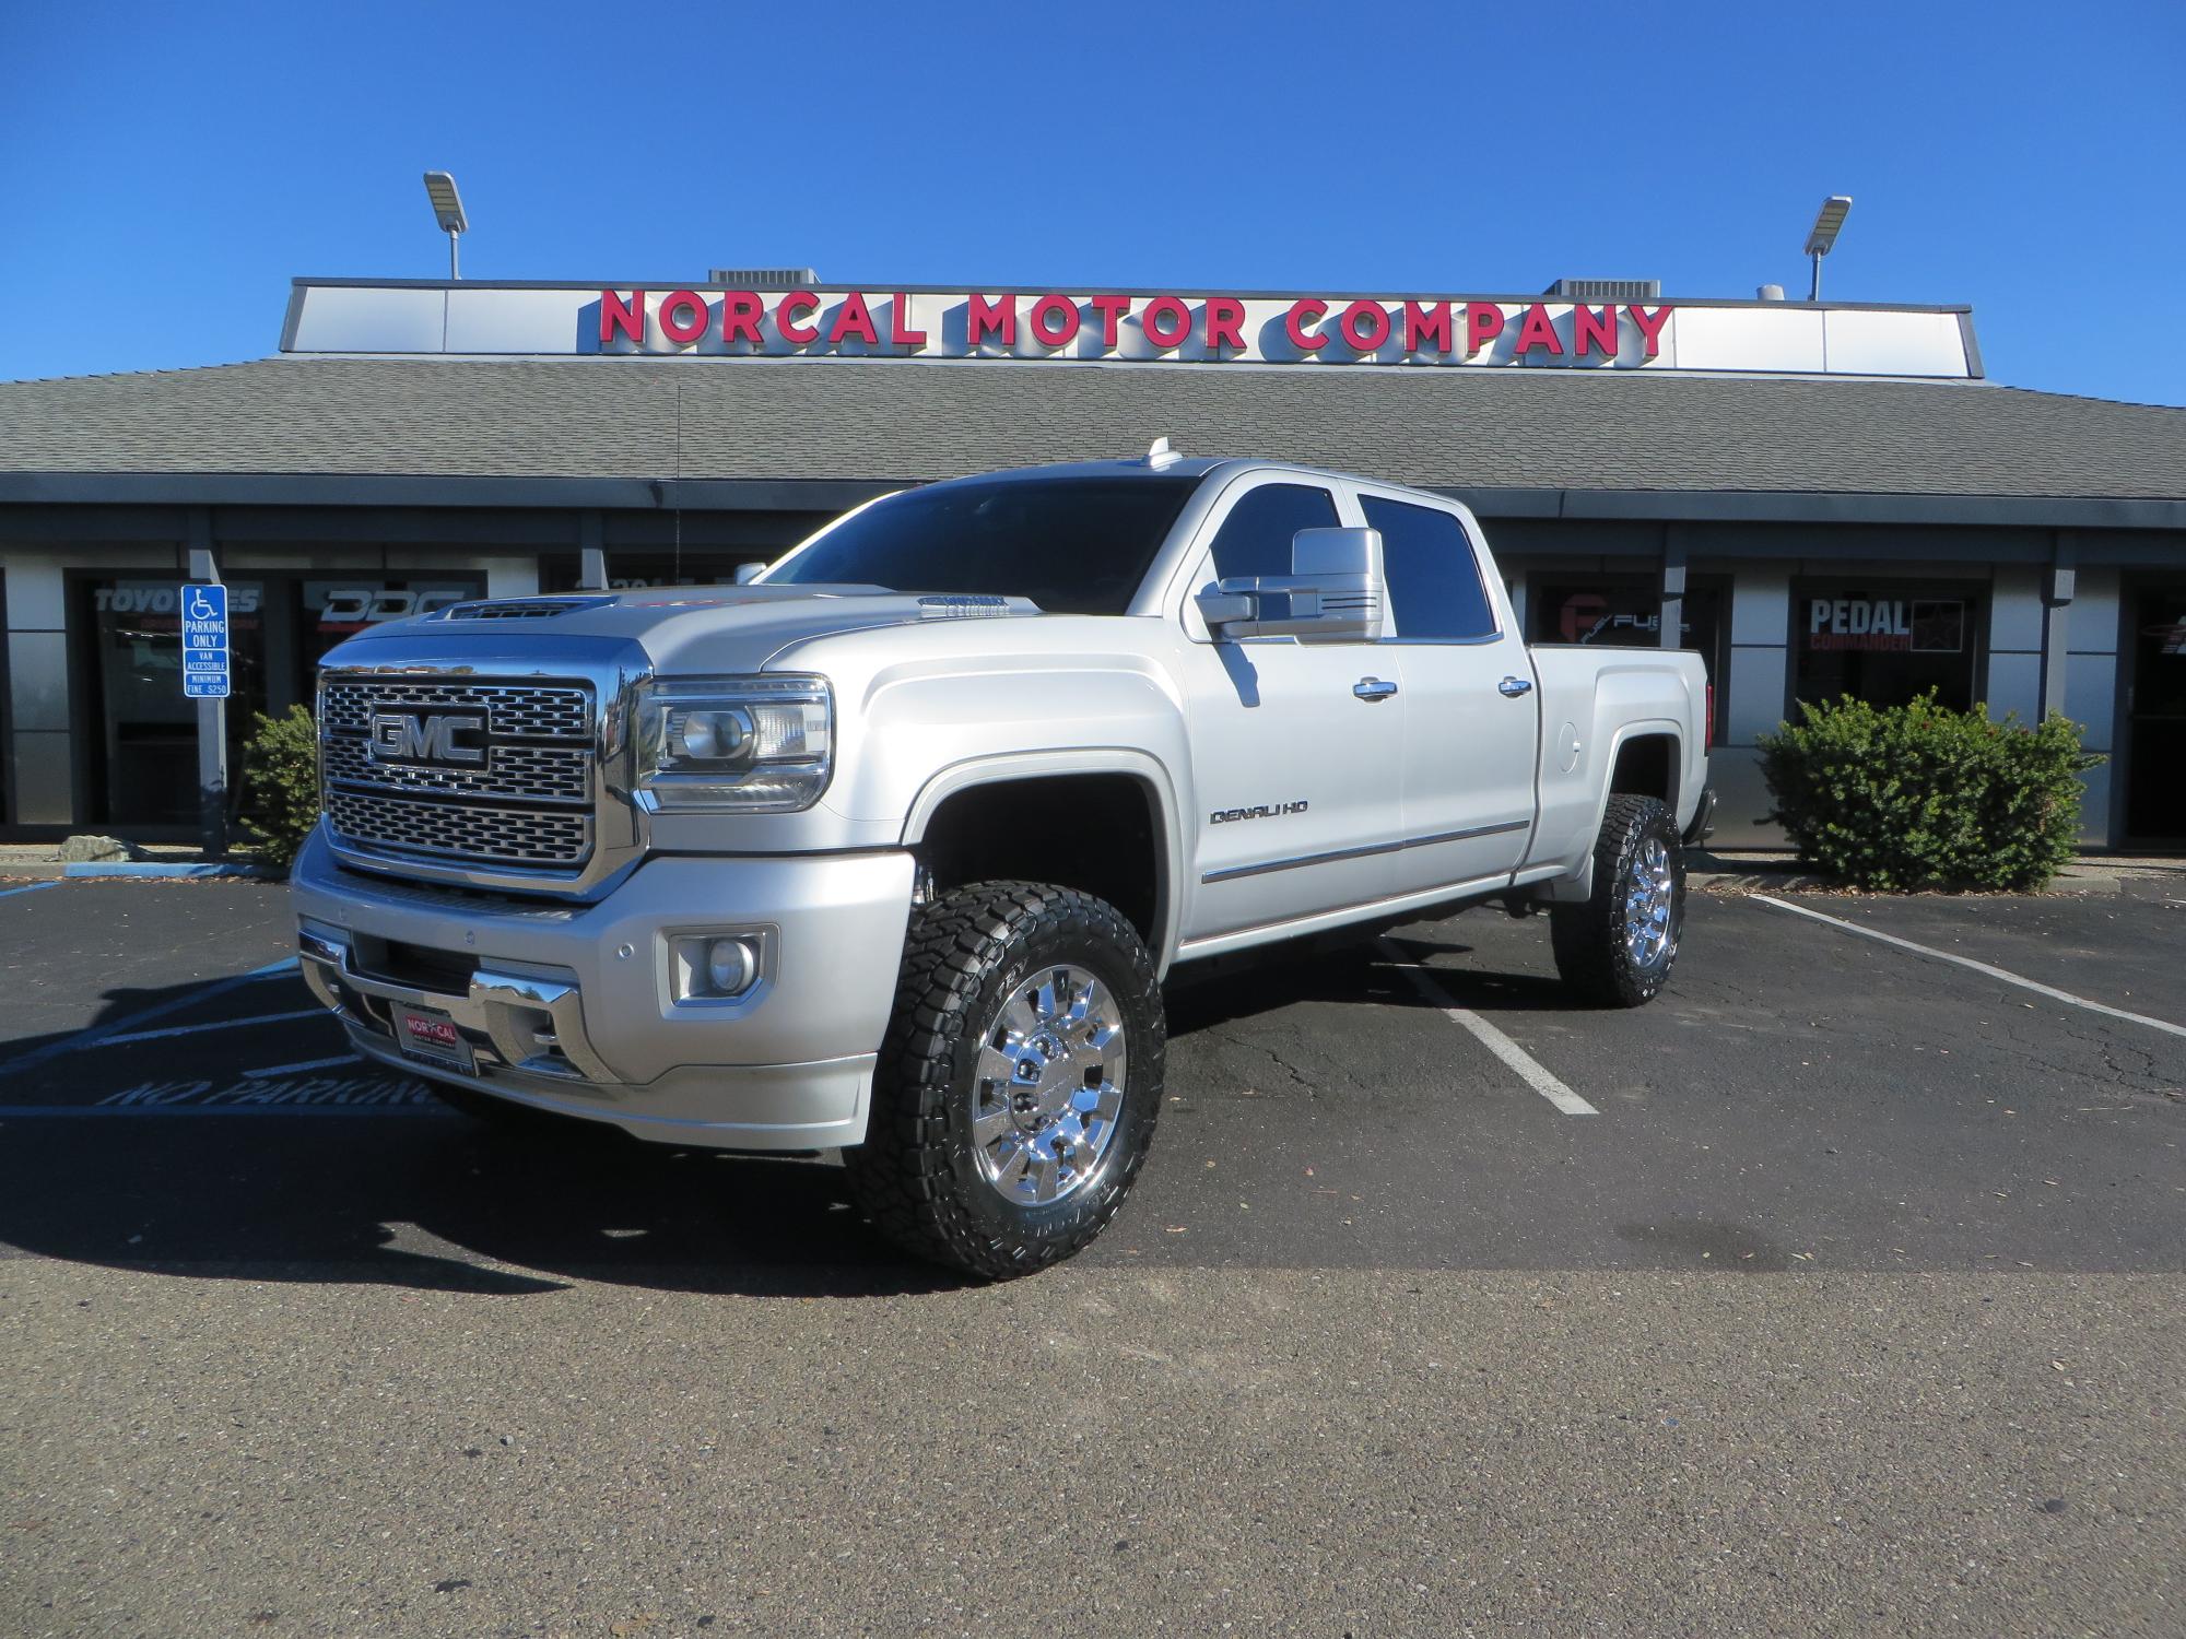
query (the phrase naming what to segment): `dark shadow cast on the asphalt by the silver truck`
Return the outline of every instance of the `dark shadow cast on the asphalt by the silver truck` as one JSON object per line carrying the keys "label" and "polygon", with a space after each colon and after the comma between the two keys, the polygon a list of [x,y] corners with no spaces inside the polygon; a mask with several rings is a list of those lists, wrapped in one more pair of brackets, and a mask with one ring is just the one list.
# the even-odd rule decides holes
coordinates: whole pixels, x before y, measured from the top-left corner
{"label": "dark shadow cast on the asphalt by the silver truck", "polygon": [[[1427,959],[1465,946],[1414,933],[1401,951]],[[1563,1005],[1550,979],[1447,977],[1471,1007]],[[881,1241],[839,1167],[660,1149],[555,1121],[485,1125],[380,1066],[324,1066],[339,1038],[319,1021],[249,1047],[234,1031],[87,1047],[188,1016],[205,994],[114,992],[85,1031],[0,1051],[0,1248],[157,1274],[481,1296],[551,1294],[577,1278],[750,1296],[962,1285]],[[236,1021],[308,1005],[286,977],[221,1001]],[[1432,1005],[1386,951],[1351,944],[1178,981],[1172,1036],[1301,1001]],[[317,1088],[286,1086],[319,1101],[247,1104],[267,1084],[245,1071],[269,1056],[302,1060]],[[114,1099],[127,1106],[96,1108]],[[35,1115],[11,1119],[9,1106]]]}

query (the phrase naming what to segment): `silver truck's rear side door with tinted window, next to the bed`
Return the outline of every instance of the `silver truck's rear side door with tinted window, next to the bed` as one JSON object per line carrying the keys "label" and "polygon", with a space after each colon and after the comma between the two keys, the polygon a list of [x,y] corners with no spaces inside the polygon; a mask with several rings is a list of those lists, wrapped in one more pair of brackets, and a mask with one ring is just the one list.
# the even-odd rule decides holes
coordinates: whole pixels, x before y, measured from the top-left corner
{"label": "silver truck's rear side door with tinted window, next to the bed", "polygon": [[1517,870],[1535,820],[1532,662],[1456,511],[1364,485],[1358,503],[1382,531],[1408,706],[1397,892],[1480,885]]}

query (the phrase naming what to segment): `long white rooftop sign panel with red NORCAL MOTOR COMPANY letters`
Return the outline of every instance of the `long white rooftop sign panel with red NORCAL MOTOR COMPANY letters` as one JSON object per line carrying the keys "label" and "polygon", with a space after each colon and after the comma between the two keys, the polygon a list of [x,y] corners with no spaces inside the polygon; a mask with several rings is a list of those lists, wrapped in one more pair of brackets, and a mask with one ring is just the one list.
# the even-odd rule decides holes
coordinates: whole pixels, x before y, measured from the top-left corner
{"label": "long white rooftop sign panel with red NORCAL MOTOR COMPANY letters", "polygon": [[1978,376],[1963,308],[297,280],[282,352]]}

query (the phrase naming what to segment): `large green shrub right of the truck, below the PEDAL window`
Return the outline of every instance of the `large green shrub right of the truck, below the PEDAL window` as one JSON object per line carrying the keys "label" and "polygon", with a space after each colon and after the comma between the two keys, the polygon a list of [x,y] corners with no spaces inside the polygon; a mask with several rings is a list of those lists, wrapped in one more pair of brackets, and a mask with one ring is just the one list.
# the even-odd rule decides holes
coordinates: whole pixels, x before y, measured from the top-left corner
{"label": "large green shrub right of the truck, below the PEDAL window", "polygon": [[1801,704],[1803,723],[1760,739],[1775,820],[1799,854],[1858,887],[2035,892],[2072,859],[2079,776],[2101,763],[2079,726],[1983,706]]}

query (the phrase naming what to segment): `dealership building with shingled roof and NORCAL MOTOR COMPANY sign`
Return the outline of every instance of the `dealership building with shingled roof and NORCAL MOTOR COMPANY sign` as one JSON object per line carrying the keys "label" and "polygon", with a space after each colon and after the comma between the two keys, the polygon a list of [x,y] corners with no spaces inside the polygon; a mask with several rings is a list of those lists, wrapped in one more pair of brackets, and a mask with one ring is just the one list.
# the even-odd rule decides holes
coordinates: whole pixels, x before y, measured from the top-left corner
{"label": "dealership building with shingled roof and NORCAL MOTOR COMPANY sign", "polygon": [[192,564],[240,741],[367,623],[726,581],[885,490],[1154,437],[1458,496],[1526,638],[1701,651],[1718,844],[1775,841],[1795,701],[1937,688],[2085,726],[2090,846],[2186,848],[2186,409],[1998,387],[1965,308],[802,271],[297,280],[271,358],[0,385],[0,837],[197,835]]}

